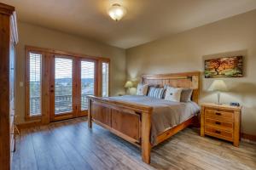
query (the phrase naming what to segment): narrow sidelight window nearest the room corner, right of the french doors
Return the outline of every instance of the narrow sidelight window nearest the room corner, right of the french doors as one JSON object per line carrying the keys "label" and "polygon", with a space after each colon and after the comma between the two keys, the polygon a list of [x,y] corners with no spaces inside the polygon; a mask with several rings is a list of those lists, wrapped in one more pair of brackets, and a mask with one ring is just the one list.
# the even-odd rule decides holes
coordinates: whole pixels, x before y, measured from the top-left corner
{"label": "narrow sidelight window nearest the room corner, right of the french doors", "polygon": [[109,63],[102,62],[102,97],[109,94]]}

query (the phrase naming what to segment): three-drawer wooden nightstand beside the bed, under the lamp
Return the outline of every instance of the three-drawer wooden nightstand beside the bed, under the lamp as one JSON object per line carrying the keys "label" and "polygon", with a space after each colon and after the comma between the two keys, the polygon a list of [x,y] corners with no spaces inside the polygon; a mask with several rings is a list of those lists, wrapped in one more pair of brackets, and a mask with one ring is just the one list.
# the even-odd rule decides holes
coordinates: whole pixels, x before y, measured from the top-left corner
{"label": "three-drawer wooden nightstand beside the bed, under the lamp", "polygon": [[201,136],[205,134],[239,145],[241,106],[201,105]]}

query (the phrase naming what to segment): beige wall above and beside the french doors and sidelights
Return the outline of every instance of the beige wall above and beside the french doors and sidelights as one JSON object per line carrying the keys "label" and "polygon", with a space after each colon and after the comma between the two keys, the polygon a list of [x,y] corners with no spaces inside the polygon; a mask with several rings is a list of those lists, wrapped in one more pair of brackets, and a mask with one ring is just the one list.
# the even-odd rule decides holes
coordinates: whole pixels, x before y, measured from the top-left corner
{"label": "beige wall above and beside the french doors and sidelights", "polygon": [[25,80],[25,45],[40,48],[53,48],[102,56],[111,59],[111,95],[124,93],[125,84],[125,50],[114,48],[99,42],[90,41],[81,37],[75,37],[59,31],[49,30],[40,26],[32,26],[26,23],[18,23],[19,38],[16,50],[16,114],[17,122],[24,122],[25,114],[25,88],[20,87],[20,82]]}

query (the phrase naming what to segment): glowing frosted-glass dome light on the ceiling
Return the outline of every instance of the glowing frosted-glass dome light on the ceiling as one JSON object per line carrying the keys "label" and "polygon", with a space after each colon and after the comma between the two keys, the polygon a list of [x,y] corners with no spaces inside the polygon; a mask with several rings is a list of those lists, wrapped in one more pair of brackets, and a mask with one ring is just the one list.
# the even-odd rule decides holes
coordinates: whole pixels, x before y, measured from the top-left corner
{"label": "glowing frosted-glass dome light on the ceiling", "polygon": [[113,3],[113,5],[108,9],[108,14],[113,20],[119,21],[125,16],[126,9],[119,3]]}

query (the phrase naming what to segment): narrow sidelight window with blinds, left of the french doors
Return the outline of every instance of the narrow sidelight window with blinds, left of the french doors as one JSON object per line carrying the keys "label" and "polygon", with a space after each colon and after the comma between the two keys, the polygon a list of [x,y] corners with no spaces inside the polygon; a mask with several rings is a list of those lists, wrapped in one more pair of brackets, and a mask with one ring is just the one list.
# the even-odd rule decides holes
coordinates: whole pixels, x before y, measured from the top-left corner
{"label": "narrow sidelight window with blinds, left of the french doors", "polygon": [[29,115],[39,116],[42,93],[42,54],[29,53]]}

